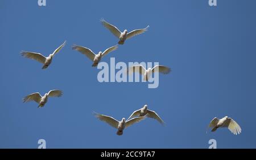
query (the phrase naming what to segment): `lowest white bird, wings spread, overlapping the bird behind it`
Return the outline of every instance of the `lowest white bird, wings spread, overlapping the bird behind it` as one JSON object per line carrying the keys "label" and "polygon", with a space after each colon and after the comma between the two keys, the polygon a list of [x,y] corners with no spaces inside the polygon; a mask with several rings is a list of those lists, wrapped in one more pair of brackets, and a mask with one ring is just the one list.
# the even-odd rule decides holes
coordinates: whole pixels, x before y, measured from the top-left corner
{"label": "lowest white bird, wings spread, overlapping the bird behind it", "polygon": [[125,128],[131,126],[134,123],[140,122],[141,120],[146,118],[146,116],[139,116],[137,118],[133,118],[130,120],[125,120],[125,118],[122,118],[121,121],[118,121],[111,116],[102,115],[102,114],[98,114],[98,113],[94,113],[94,114],[95,114],[96,118],[100,119],[103,122],[108,123],[110,126],[116,128],[116,129],[118,129],[118,131],[117,131],[118,136],[123,135],[123,130]]}

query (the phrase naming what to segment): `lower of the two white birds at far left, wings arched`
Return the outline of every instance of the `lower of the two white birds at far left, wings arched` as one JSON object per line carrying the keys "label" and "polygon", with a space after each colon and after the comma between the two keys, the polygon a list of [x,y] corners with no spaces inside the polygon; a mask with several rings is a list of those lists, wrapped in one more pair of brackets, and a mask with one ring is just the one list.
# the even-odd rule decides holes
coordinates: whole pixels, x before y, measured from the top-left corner
{"label": "lower of the two white birds at far left, wings arched", "polygon": [[23,103],[35,101],[36,103],[39,103],[38,107],[40,108],[46,104],[48,97],[60,97],[62,94],[63,92],[61,90],[50,90],[48,93],[44,94],[44,96],[41,96],[40,93],[36,92],[24,97]]}

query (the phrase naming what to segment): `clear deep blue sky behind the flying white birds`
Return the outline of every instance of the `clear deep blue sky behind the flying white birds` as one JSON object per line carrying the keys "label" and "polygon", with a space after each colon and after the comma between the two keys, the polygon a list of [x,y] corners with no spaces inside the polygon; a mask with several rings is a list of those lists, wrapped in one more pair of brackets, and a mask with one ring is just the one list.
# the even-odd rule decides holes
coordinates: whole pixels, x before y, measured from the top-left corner
{"label": "clear deep blue sky behind the flying white birds", "polygon": [[[256,147],[256,1],[0,1],[0,148],[217,148]],[[126,41],[103,60],[159,62],[172,68],[159,87],[146,83],[99,83],[92,62],[72,44],[95,52],[117,44],[100,24],[122,31],[150,31]],[[67,45],[47,70],[21,50],[52,53]],[[27,94],[61,89],[42,109],[22,103]],[[128,118],[148,104],[166,122],[146,119],[123,136],[92,112]],[[206,133],[214,118],[236,120],[241,135],[228,129]]]}

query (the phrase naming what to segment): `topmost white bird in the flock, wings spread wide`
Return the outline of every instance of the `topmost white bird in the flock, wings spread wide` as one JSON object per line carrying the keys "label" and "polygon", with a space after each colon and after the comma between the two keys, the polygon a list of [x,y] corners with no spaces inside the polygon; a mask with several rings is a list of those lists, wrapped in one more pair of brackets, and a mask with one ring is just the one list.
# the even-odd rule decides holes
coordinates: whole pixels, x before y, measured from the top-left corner
{"label": "topmost white bird in the flock, wings spread wide", "polygon": [[101,23],[102,23],[102,25],[104,25],[104,27],[108,28],[109,31],[112,32],[115,37],[117,37],[119,39],[119,42],[118,42],[119,45],[123,45],[125,43],[125,40],[128,40],[131,37],[134,37],[134,36],[137,36],[138,34],[142,34],[142,33],[146,32],[149,28],[149,25],[148,25],[146,28],[135,29],[135,30],[127,33],[127,29],[125,29],[125,31],[121,32],[121,31],[119,31],[119,29],[117,27],[115,27],[112,24],[109,24],[104,19],[101,19]]}

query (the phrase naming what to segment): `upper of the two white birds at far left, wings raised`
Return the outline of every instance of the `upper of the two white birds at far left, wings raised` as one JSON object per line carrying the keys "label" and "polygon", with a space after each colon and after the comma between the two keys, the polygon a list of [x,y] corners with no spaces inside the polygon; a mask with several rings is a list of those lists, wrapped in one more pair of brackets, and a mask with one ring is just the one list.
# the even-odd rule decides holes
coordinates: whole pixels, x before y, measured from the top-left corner
{"label": "upper of the two white birds at far left, wings raised", "polygon": [[52,54],[49,54],[48,57],[44,57],[40,53],[35,53],[31,51],[22,51],[21,54],[26,58],[34,59],[40,63],[43,63],[44,66],[42,67],[42,69],[46,69],[49,66],[49,64],[52,63],[52,58],[65,46],[65,44],[66,41],[64,41],[64,43],[61,46],[59,46],[55,51],[53,51]]}

